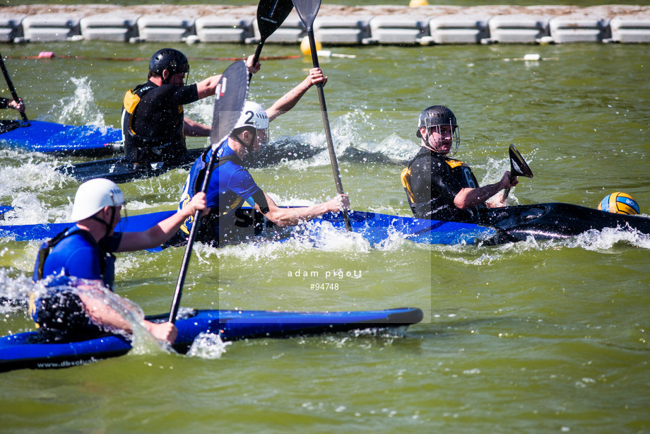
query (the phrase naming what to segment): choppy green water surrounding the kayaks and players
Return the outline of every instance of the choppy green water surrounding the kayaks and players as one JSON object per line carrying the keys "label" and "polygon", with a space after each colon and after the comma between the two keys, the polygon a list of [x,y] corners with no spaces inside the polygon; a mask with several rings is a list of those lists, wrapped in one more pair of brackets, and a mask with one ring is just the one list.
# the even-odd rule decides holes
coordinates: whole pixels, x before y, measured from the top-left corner
{"label": "choppy green water surrounding the kayaks and players", "polygon": [[[174,45],[189,57],[250,54],[244,45]],[[34,119],[116,126],[122,95],[146,76],[157,45],[74,42],[1,47],[20,57],[53,51],[85,59],[8,59]],[[424,107],[444,104],[461,125],[457,157],[480,182],[507,169],[515,143],[535,177],[514,203],[595,207],[632,194],[648,212],[650,88],[645,45],[330,47],[321,59],[343,187],[354,209],[408,215],[399,183],[417,151]],[[296,54],[268,45],[265,55]],[[539,62],[517,60],[536,53]],[[95,59],[93,59],[93,57]],[[268,107],[305,76],[307,59],[267,61],[250,97]],[[194,61],[191,79],[227,61]],[[317,94],[271,126],[324,148]],[[209,122],[211,105],[187,107]],[[15,115],[5,110],[4,117]],[[193,139],[191,146],[205,142]],[[354,151],[354,152],[353,152]],[[0,203],[10,223],[67,221],[78,182],[54,172],[81,161],[0,151]],[[281,204],[335,194],[326,155],[252,171]],[[130,213],[173,209],[187,172],[122,185]],[[301,242],[196,246],[182,305],[265,310],[415,306],[405,334],[334,335],[204,346],[193,357],[137,354],[54,371],[1,374],[3,432],[643,433],[650,431],[649,237],[587,234],[500,247],[426,246],[395,237],[368,245],[331,235]],[[28,290],[36,242],[0,240],[0,278]],[[146,313],[169,309],[181,250],[120,254],[117,293]],[[289,276],[317,271],[319,278]],[[343,272],[328,278],[327,271]],[[360,276],[345,276],[359,271]],[[338,283],[314,291],[311,283]],[[2,307],[1,334],[30,329]]]}

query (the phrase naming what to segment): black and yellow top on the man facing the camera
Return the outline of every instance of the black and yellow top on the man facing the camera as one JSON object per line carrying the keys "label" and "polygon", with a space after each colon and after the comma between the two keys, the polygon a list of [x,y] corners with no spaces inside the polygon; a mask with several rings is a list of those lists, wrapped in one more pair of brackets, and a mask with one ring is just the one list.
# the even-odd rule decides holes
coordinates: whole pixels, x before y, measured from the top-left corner
{"label": "black and yellow top on the man facing the camera", "polygon": [[407,197],[416,218],[477,221],[476,211],[485,208],[485,205],[471,209],[459,209],[454,205],[454,197],[461,189],[478,187],[478,182],[468,165],[422,147],[408,162],[408,169],[413,196],[407,189]]}

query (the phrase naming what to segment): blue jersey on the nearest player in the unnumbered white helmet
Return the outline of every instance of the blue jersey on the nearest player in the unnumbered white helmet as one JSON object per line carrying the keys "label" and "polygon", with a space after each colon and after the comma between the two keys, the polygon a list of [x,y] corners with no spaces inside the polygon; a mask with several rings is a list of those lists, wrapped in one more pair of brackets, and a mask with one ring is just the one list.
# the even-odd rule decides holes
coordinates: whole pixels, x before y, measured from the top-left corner
{"label": "blue jersey on the nearest player in the unnumbered white helmet", "polygon": [[[103,281],[108,288],[112,288],[115,275],[112,253],[119,247],[122,234],[114,233],[102,239],[100,244],[95,242],[90,233],[79,230],[76,226],[67,230],[66,234],[69,235],[57,242],[45,257],[42,276],[63,274],[76,278],[95,279]],[[40,255],[34,270],[35,281],[39,280],[39,266]]]}

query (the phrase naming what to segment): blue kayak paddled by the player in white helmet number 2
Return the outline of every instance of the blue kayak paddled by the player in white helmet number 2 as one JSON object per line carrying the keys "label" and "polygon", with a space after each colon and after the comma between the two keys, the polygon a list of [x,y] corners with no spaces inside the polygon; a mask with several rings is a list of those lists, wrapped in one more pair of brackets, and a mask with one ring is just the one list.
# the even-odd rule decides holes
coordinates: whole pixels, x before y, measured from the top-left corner
{"label": "blue kayak paddled by the player in white helmet number 2", "polygon": [[[146,230],[156,223],[171,216],[175,211],[158,211],[156,213],[129,216],[123,219],[118,228],[124,232],[138,232]],[[242,223],[238,230],[241,237],[249,240],[288,240],[292,236],[307,234],[314,240],[318,247],[318,236],[325,228],[336,228],[345,231],[342,213],[326,213],[320,218],[315,218],[313,225],[309,223],[308,230],[302,230],[301,225],[280,230],[250,208],[237,211],[237,218]],[[421,220],[413,217],[391,216],[389,214],[372,213],[363,211],[350,211],[350,225],[355,233],[372,244],[388,240],[391,234],[396,233],[406,240],[423,244],[474,244],[480,238],[491,237],[495,231],[491,228],[470,223],[454,223],[449,221]],[[244,222],[248,222],[245,224]],[[326,225],[324,223],[331,223]],[[16,241],[47,240],[57,233],[69,228],[72,223],[45,223],[37,225],[0,225],[0,237],[11,237]],[[160,250],[160,249],[155,249]]]}

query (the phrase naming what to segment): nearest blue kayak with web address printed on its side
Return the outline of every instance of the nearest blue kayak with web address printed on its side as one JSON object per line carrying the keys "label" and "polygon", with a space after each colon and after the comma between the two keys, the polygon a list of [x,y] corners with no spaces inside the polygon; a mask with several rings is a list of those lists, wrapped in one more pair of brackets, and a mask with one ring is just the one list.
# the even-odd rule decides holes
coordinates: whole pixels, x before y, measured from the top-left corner
{"label": "nearest blue kayak with web address printed on its side", "polygon": [[[164,322],[169,315],[148,317]],[[349,332],[360,329],[408,327],[422,321],[416,307],[358,312],[276,312],[264,310],[193,310],[177,319],[178,336],[172,346],[187,353],[201,333],[218,334],[223,341],[254,338],[286,338],[314,334]],[[0,337],[0,372],[15,369],[69,368],[104,358],[122,356],[131,350],[131,341],[109,335],[68,344],[31,343],[37,332]]]}

